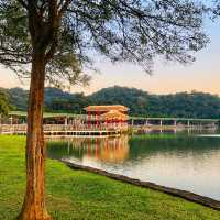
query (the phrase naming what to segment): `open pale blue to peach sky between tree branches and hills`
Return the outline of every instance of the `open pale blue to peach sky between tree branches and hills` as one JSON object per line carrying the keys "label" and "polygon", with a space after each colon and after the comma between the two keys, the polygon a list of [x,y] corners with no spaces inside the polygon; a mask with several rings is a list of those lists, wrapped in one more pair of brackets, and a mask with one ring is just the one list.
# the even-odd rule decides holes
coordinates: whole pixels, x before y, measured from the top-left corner
{"label": "open pale blue to peach sky between tree branches and hills", "polygon": [[[196,54],[194,64],[155,62],[153,75],[147,75],[141,67],[128,63],[112,65],[100,61],[97,67],[101,74],[94,74],[90,86],[72,87],[72,92],[91,94],[110,86],[127,86],[139,88],[152,94],[175,94],[179,91],[204,91],[220,96],[220,21],[207,22],[205,30],[211,42]],[[23,87],[16,75],[0,66],[0,87]]]}

